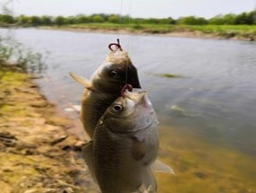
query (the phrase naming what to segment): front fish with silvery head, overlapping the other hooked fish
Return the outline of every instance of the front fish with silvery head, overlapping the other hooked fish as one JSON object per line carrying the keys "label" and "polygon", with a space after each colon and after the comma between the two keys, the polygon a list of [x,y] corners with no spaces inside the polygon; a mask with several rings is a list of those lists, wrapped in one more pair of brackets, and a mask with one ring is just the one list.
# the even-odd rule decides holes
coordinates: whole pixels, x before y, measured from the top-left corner
{"label": "front fish with silvery head, overlapping the other hooked fish", "polygon": [[155,192],[158,119],[144,91],[124,92],[99,119],[82,154],[103,193]]}

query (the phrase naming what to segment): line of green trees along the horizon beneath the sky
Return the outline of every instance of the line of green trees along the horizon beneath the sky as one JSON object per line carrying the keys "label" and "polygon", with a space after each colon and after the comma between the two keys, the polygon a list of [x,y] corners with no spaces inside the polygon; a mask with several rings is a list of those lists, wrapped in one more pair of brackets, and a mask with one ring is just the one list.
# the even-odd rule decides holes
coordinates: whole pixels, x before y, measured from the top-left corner
{"label": "line of green trees along the horizon beneath the sky", "polygon": [[253,25],[256,24],[256,11],[240,14],[224,14],[216,15],[213,18],[205,19],[203,17],[187,16],[180,17],[177,20],[169,18],[130,18],[129,16],[120,16],[118,14],[78,14],[77,16],[57,16],[52,17],[48,15],[43,16],[12,16],[7,14],[0,14],[0,25],[17,24],[20,26],[50,26],[50,25],[68,25],[68,24],[83,24],[83,23],[118,23],[118,24],[178,24],[178,25]]}

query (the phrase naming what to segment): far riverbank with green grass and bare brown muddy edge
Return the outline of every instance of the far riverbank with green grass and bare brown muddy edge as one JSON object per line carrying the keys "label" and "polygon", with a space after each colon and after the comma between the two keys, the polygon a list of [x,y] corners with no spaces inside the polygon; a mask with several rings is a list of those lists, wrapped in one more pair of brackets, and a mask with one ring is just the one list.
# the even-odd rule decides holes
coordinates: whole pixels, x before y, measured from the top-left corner
{"label": "far riverbank with green grass and bare brown muddy edge", "polygon": [[60,31],[160,35],[203,39],[256,40],[256,26],[254,25],[118,25],[113,23],[90,23],[39,28]]}

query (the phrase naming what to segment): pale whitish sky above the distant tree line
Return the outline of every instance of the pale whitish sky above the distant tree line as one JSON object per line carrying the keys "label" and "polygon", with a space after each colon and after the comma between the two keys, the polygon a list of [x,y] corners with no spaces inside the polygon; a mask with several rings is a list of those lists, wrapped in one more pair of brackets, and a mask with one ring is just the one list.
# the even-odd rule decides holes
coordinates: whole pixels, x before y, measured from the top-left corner
{"label": "pale whitish sky above the distant tree line", "polygon": [[217,14],[251,12],[256,0],[14,0],[10,6],[15,15],[116,13],[142,18],[194,15],[208,19]]}

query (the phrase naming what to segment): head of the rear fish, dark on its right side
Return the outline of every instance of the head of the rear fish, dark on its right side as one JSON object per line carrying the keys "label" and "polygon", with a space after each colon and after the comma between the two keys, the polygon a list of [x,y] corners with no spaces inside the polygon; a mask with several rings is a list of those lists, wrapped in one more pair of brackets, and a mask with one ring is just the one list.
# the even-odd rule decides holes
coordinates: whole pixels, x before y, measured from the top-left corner
{"label": "head of the rear fish, dark on its right side", "polygon": [[91,81],[96,90],[103,92],[120,92],[125,84],[141,88],[137,69],[127,52],[109,53],[105,61],[92,75]]}

